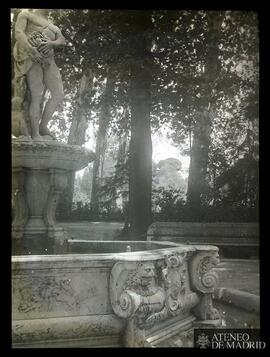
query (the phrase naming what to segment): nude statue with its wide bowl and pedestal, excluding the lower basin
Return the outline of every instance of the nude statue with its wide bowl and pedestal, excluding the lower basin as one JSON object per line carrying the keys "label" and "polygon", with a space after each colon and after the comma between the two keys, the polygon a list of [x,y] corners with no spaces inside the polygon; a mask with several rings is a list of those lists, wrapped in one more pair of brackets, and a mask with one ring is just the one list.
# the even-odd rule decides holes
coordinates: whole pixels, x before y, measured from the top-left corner
{"label": "nude statue with its wide bowl and pedestal, excluding the lower basin", "polygon": [[[66,44],[48,9],[22,10],[15,24],[12,99],[13,254],[63,251],[63,228],[55,222],[67,175],[83,169],[94,153],[58,142],[48,129],[64,98],[54,49]],[[83,96],[81,90],[80,96]]]}

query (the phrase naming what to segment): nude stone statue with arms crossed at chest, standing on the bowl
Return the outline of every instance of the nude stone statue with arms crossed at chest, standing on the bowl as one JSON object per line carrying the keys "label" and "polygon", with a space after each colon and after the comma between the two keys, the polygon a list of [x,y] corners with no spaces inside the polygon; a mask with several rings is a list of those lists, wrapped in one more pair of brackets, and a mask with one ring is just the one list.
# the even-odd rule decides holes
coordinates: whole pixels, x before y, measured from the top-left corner
{"label": "nude stone statue with arms crossed at chest, standing on the bowl", "polygon": [[[54,48],[66,41],[60,29],[48,21],[48,15],[48,9],[23,10],[15,24],[14,97],[24,102],[27,88],[30,91],[28,114],[33,140],[44,140],[44,135],[54,138],[47,125],[64,98]],[[51,95],[45,106],[44,89]]]}

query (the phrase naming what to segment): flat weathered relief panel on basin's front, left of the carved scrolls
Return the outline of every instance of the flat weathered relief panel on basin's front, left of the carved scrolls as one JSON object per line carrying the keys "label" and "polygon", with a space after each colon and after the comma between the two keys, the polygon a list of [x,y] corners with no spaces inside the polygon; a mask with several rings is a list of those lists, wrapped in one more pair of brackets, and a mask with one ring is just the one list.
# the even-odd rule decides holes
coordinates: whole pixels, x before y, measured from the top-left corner
{"label": "flat weathered relief panel on basin's front, left of the carved scrolls", "polygon": [[49,256],[36,262],[29,258],[13,265],[13,319],[112,313],[107,293],[111,262],[76,262],[68,256],[54,264]]}

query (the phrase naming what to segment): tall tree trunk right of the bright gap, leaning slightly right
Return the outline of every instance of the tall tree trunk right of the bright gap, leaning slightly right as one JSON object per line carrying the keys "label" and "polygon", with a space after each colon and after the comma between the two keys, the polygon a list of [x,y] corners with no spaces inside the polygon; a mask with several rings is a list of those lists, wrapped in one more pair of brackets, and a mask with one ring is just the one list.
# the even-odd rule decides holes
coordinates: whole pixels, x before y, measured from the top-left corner
{"label": "tall tree trunk right of the bright gap, leaning slightly right", "polygon": [[202,75],[201,100],[198,105],[199,113],[193,132],[187,190],[187,204],[195,215],[199,214],[207,186],[206,174],[211,144],[211,122],[213,119],[212,94],[220,70],[218,33],[223,18],[217,12],[208,12],[207,17],[209,28],[205,72]]}

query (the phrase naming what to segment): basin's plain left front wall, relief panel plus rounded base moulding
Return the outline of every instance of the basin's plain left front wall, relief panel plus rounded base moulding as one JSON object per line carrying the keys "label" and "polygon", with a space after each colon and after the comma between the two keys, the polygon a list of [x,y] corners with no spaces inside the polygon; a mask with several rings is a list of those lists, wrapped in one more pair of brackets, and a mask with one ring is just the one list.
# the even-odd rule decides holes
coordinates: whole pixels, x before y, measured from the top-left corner
{"label": "basin's plain left front wall, relief panel plus rounded base moulding", "polygon": [[118,345],[123,323],[108,295],[112,265],[82,256],[13,257],[13,345]]}

